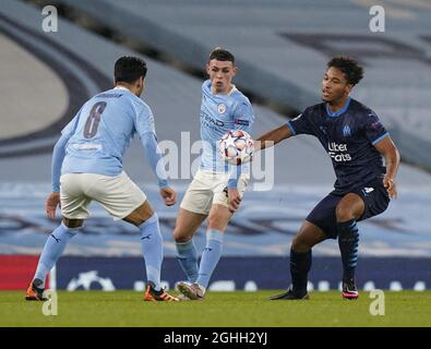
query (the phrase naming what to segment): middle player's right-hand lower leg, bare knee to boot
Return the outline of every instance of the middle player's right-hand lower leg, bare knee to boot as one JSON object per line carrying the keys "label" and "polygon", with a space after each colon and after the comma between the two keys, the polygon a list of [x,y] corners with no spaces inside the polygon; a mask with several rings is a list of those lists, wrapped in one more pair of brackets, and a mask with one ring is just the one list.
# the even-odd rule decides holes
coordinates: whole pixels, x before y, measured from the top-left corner
{"label": "middle player's right-hand lower leg, bare knee to boot", "polygon": [[224,232],[231,216],[232,213],[225,205],[214,204],[209,210],[206,245],[202,253],[197,279],[192,284],[178,285],[181,293],[191,300],[204,298],[209,278],[222,256]]}

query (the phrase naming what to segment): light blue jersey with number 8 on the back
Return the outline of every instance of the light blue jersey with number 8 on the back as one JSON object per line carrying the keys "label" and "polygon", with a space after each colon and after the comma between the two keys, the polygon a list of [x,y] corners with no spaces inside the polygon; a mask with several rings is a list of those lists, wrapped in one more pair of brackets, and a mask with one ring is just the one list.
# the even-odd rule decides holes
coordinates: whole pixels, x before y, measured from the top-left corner
{"label": "light blue jersey with number 8 on the back", "polygon": [[141,98],[123,87],[103,92],[61,131],[70,136],[61,173],[118,176],[130,141],[146,132],[155,134],[154,117]]}

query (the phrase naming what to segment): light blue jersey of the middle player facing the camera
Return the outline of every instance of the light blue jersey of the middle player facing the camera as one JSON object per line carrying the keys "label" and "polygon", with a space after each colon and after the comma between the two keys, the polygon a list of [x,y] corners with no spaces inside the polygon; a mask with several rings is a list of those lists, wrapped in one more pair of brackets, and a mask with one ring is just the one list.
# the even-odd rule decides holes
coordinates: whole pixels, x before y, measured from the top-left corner
{"label": "light blue jersey of the middle player facing the camera", "polygon": [[[253,108],[235,86],[228,95],[214,95],[209,80],[202,84],[201,139],[203,153],[201,168],[214,172],[228,172],[231,169],[220,156],[217,141],[229,130],[243,130],[251,135],[254,121]],[[250,164],[241,166],[242,173],[250,172]]]}

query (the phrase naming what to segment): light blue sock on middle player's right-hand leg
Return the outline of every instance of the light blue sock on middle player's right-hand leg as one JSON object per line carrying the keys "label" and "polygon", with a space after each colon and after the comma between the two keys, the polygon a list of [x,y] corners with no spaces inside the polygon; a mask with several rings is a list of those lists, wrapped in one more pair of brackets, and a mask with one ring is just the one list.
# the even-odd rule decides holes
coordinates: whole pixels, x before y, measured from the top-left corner
{"label": "light blue sock on middle player's right-hand leg", "polygon": [[206,232],[206,246],[202,253],[199,277],[196,282],[207,288],[209,278],[220,260],[223,251],[223,236],[219,230],[211,229]]}

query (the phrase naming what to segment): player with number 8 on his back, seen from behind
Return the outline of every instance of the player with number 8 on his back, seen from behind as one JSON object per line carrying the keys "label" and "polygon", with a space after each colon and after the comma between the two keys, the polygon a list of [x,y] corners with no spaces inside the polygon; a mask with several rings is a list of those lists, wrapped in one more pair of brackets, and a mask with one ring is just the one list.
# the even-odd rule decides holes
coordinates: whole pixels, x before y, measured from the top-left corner
{"label": "player with number 8 on his back, seen from behind", "polygon": [[45,300],[46,277],[88,218],[92,201],[98,202],[113,219],[123,219],[140,229],[147,278],[144,300],[178,300],[160,287],[163,238],[157,214],[122,169],[123,154],[137,133],[165,204],[175,204],[176,192],[169,188],[163,161],[159,163],[154,117],[140,98],[146,71],[144,60],[120,58],[115,64],[115,88],[86,101],[62,130],[52,154],[52,193],[47,198],[46,213],[53,218],[61,202],[63,219],[48,237],[27,289],[27,300]]}

